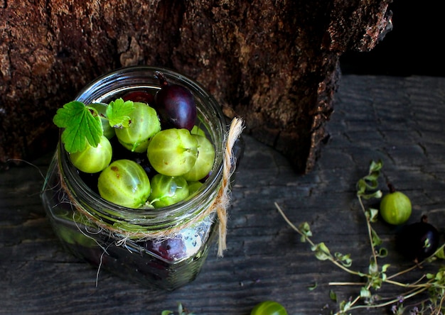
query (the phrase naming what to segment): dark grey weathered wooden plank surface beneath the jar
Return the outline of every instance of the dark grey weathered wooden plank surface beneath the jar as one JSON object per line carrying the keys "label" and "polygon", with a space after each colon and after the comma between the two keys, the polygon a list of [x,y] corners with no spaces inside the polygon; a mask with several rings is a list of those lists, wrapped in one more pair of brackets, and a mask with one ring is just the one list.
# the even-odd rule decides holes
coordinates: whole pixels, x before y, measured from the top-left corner
{"label": "dark grey weathered wooden plank surface beneath the jar", "polygon": [[[174,292],[106,272],[99,273],[96,287],[97,270],[65,253],[45,218],[40,172],[50,155],[32,161],[37,168],[11,167],[0,174],[0,314],[161,314],[181,302],[195,314],[247,315],[264,299],[281,302],[289,314],[329,314],[336,309],[331,289],[348,299],[358,287],[328,282],[359,279],[316,260],[274,202],[296,225],[308,221],[313,241],[350,253],[355,269],[366,268],[370,250],[355,182],[371,159],[381,159],[385,177],[412,199],[411,221],[428,214],[443,231],[444,94],[440,77],[344,76],[327,126],[331,137],[309,175],[297,176],[279,153],[245,136],[225,257],[217,258],[213,246],[198,279]],[[395,228],[375,227],[390,250],[382,261],[392,270],[411,265],[394,252]],[[309,290],[313,284],[316,289]],[[389,287],[381,293],[397,292]]]}

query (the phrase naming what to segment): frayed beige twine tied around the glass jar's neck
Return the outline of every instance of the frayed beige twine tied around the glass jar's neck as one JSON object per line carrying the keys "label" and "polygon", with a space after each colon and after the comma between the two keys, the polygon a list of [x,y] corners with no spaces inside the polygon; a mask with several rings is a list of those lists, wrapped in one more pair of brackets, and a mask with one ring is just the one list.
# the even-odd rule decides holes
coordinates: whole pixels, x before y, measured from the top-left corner
{"label": "frayed beige twine tied around the glass jar's neck", "polygon": [[235,172],[235,156],[233,155],[232,148],[235,145],[236,140],[240,137],[243,130],[243,122],[241,118],[233,118],[230,123],[229,131],[225,134],[225,145],[223,148],[223,178],[221,179],[221,184],[216,194],[215,199],[210,203],[204,211],[200,211],[200,214],[195,216],[193,219],[186,221],[184,223],[173,226],[172,228],[161,229],[159,231],[146,231],[142,226],[138,228],[137,224],[127,223],[127,225],[132,226],[132,231],[128,231],[122,228],[122,225],[116,225],[104,221],[100,215],[92,214],[90,211],[85,209],[75,197],[70,192],[63,175],[60,174],[60,184],[63,190],[68,195],[68,199],[71,204],[75,207],[77,211],[85,215],[89,221],[99,226],[104,231],[109,231],[109,233],[114,233],[114,235],[119,236],[119,241],[117,245],[123,245],[128,239],[144,241],[147,239],[165,239],[172,238],[181,231],[183,228],[188,228],[193,226],[201,219],[206,216],[216,213],[218,216],[219,226],[218,226],[218,256],[222,257],[224,250],[227,249],[226,236],[227,236],[227,207],[230,205],[230,177],[233,172]]}

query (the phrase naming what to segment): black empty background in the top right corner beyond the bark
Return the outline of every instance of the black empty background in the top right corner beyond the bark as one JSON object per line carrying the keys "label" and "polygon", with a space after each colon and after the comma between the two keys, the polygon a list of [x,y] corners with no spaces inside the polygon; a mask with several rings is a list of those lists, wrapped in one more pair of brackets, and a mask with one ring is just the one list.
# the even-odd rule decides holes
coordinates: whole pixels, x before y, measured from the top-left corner
{"label": "black empty background in the top right corner beyond the bark", "polygon": [[346,52],[341,57],[343,74],[444,77],[441,1],[395,0],[390,10],[392,31],[370,52]]}

